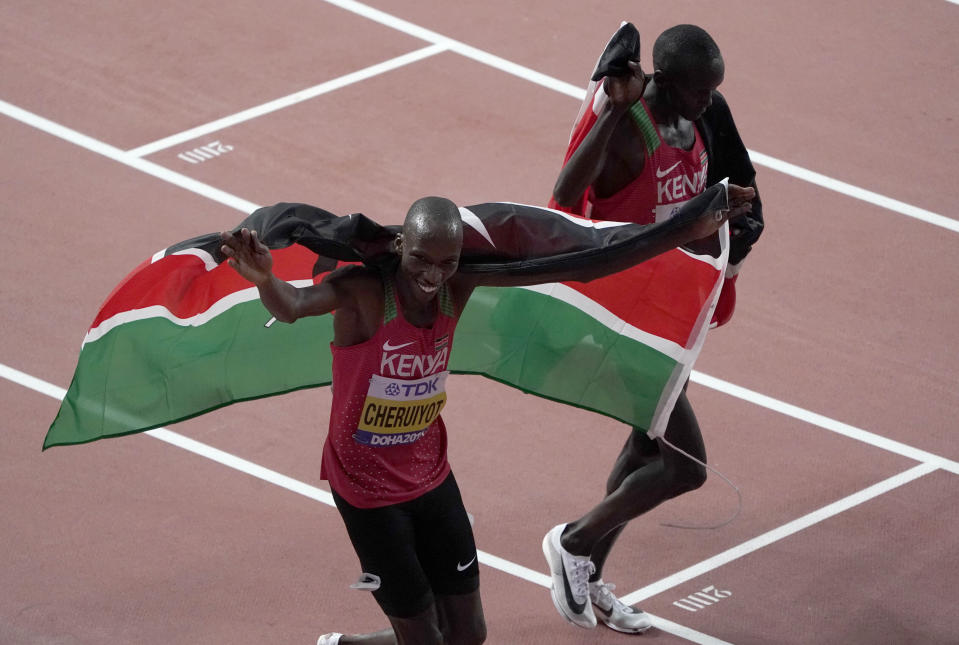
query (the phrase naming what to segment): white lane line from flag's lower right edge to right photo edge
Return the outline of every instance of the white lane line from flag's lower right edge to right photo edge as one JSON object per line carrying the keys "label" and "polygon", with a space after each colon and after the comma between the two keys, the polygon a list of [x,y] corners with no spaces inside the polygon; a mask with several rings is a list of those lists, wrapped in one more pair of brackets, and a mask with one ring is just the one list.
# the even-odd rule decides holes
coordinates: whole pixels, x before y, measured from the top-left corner
{"label": "white lane line from flag's lower right edge to right photo edge", "polygon": [[873,432],[851,426],[847,423],[842,423],[841,421],[836,421],[835,419],[830,419],[829,417],[821,414],[817,414],[790,403],[786,403],[785,401],[780,401],[779,399],[774,399],[770,396],[766,396],[765,394],[760,394],[759,392],[754,392],[753,390],[746,389],[739,385],[734,385],[729,381],[718,379],[715,376],[709,376],[708,374],[697,372],[696,370],[693,370],[690,379],[693,381],[693,383],[699,383],[705,387],[723,392],[724,394],[728,394],[732,397],[747,401],[754,405],[773,410],[774,412],[779,412],[780,414],[798,419],[804,423],[818,426],[825,430],[829,430],[830,432],[835,432],[836,434],[849,437],[850,439],[867,443],[870,446],[882,448],[883,450],[888,450],[889,452],[893,452],[897,455],[902,455],[903,457],[909,457],[910,459],[915,459],[919,462],[931,464],[937,468],[942,468],[943,470],[947,470],[953,474],[959,475],[959,463],[951,459],[941,457],[925,450],[920,450],[919,448],[914,448],[908,444],[895,441],[894,439],[888,439]]}

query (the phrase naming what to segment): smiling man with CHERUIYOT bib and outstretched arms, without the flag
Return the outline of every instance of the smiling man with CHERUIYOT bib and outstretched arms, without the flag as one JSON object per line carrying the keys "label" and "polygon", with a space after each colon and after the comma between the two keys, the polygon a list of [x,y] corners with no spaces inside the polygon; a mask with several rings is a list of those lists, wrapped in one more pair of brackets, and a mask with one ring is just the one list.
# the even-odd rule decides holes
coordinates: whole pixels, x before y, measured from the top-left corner
{"label": "smiling man with CHERUIYOT bib and outstretched arms, without the flag", "polygon": [[333,314],[333,404],[321,476],[330,482],[364,581],[391,628],[325,634],[321,645],[475,644],[486,638],[472,529],[447,461],[440,410],[456,322],[479,285],[591,280],[711,235],[748,212],[752,189],[730,186],[729,210],[706,212],[631,257],[535,278],[457,271],[459,210],[440,197],[410,207],[386,269],[351,265],[297,288],[272,272],[255,231],[223,233],[223,253],[282,322]]}

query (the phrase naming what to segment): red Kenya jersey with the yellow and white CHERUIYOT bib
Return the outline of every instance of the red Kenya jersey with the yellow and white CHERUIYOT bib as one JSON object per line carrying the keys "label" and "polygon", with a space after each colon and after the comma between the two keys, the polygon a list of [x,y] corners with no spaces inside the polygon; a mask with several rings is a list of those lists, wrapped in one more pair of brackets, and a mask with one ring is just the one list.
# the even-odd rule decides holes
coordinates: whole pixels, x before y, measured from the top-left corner
{"label": "red Kenya jersey with the yellow and white CHERUIYOT bib", "polygon": [[392,276],[383,290],[376,334],[349,347],[330,344],[333,405],[320,476],[358,508],[415,499],[450,472],[440,416],[457,321],[449,290],[440,288],[430,328],[403,318]]}

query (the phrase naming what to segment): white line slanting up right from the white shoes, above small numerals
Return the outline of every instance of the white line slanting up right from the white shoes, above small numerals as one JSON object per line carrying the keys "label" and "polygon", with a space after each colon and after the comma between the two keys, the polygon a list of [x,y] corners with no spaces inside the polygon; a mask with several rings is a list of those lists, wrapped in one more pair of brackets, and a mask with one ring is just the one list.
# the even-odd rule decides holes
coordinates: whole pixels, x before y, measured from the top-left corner
{"label": "white line slanting up right from the white shoes, above small numerals", "polygon": [[819,510],[813,511],[799,519],[793,520],[783,524],[782,526],[775,528],[771,531],[763,533],[760,536],[757,536],[751,540],[747,540],[738,546],[734,546],[731,549],[723,551],[722,553],[715,555],[711,558],[703,560],[698,564],[694,564],[691,567],[687,567],[682,571],[678,571],[670,576],[666,576],[662,580],[654,582],[650,585],[646,585],[641,589],[627,594],[620,598],[627,605],[636,604],[647,598],[659,595],[668,589],[672,589],[677,585],[680,585],[684,582],[688,582],[693,578],[697,578],[705,573],[709,573],[714,569],[717,569],[725,564],[737,560],[745,555],[752,553],[758,549],[761,549],[765,546],[769,546],[773,542],[778,542],[784,538],[798,533],[803,529],[809,528],[814,524],[818,524],[823,520],[829,519],[839,513],[848,511],[854,506],[858,506],[863,502],[867,502],[879,495],[888,493],[889,491],[898,488],[904,484],[908,484],[911,481],[914,481],[920,477],[928,475],[929,473],[937,470],[936,466],[933,464],[919,464],[918,466],[913,466],[907,471],[894,475],[889,479],[883,480],[877,484],[865,488],[857,493],[853,493],[848,497],[844,497],[828,506],[824,506]]}

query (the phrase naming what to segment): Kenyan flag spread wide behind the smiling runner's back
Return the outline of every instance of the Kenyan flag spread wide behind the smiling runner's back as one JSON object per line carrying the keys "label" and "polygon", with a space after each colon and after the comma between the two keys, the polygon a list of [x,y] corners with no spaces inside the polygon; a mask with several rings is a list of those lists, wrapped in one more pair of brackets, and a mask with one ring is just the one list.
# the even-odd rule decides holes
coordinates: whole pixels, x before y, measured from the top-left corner
{"label": "Kenyan flag spread wide behind the smiling runner's back", "polygon": [[[725,188],[714,186],[652,226],[519,204],[470,206],[461,209],[461,270],[536,275],[590,266],[724,199]],[[397,231],[303,204],[261,208],[243,226],[271,248],[277,276],[297,285],[320,281],[339,262],[383,262]],[[677,249],[589,283],[479,288],[457,327],[450,369],[662,432],[715,306],[727,256],[721,237],[719,258]],[[332,316],[274,324],[219,246],[218,233],[171,246],[113,290],[84,338],[44,449],[330,383]]]}

